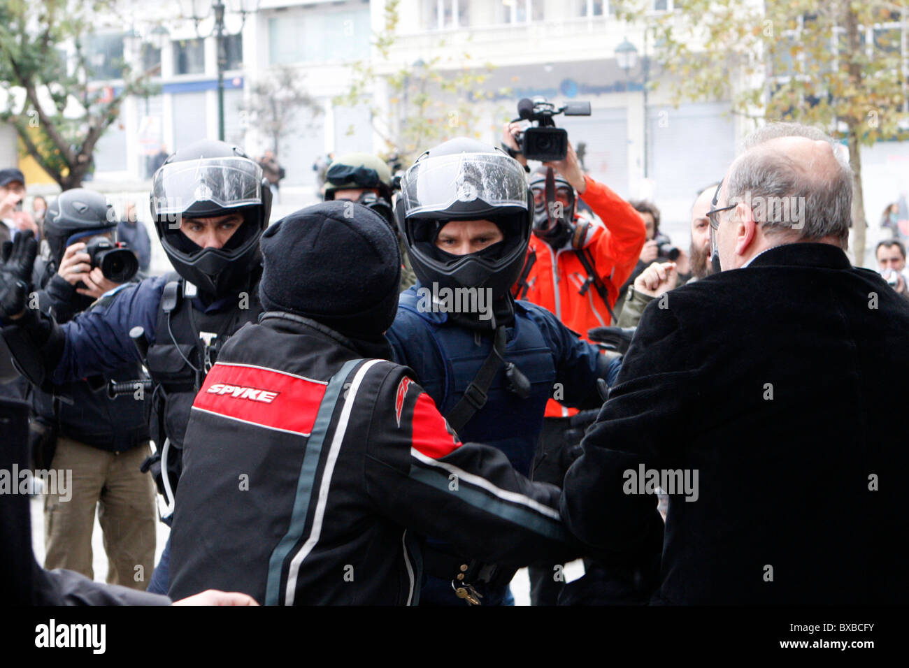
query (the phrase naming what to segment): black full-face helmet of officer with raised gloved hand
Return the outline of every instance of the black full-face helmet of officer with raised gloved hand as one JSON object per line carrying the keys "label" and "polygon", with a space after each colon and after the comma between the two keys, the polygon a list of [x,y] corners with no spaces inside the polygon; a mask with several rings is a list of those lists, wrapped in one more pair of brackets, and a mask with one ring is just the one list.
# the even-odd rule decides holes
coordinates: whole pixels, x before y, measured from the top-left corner
{"label": "black full-face helmet of officer with raised gloved hand", "polygon": [[[272,192],[255,160],[237,146],[203,139],[170,155],[152,177],[152,220],[177,274],[204,294],[225,296],[248,286],[262,262],[259,236]],[[200,248],[181,230],[183,218],[239,213],[244,222],[222,248]]]}

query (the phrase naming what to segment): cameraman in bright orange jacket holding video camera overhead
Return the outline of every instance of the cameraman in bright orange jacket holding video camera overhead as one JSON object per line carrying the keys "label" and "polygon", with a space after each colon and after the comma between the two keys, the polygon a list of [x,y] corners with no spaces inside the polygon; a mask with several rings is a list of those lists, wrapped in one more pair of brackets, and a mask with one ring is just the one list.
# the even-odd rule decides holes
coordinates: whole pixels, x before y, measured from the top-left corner
{"label": "cameraman in bright orange jacket holding video camera overhead", "polygon": [[[522,161],[516,141],[519,132],[516,123],[505,125],[503,144]],[[605,184],[584,175],[571,144],[564,160],[544,163],[544,167],[548,174],[537,174],[530,181],[533,234],[514,295],[544,306],[589,341],[588,330],[614,320],[618,286],[631,274],[644,244],[644,222],[631,204]],[[547,191],[554,194],[554,201],[548,201]],[[590,205],[603,224],[576,213],[575,194]],[[555,398],[546,404],[534,480],[562,484],[570,464],[566,455],[584,435],[584,424],[578,423],[577,413]],[[531,570],[532,603],[555,603],[560,588],[552,568]]]}

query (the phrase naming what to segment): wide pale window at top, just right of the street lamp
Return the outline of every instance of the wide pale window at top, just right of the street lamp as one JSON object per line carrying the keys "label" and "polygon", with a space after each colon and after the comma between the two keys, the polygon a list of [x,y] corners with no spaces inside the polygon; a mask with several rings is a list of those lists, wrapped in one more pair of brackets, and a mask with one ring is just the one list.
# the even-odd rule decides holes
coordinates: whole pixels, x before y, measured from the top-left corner
{"label": "wide pale window at top, just right of the street lamp", "polygon": [[[349,6],[349,5],[348,5]],[[357,60],[369,55],[369,7],[287,12],[268,19],[272,65]]]}

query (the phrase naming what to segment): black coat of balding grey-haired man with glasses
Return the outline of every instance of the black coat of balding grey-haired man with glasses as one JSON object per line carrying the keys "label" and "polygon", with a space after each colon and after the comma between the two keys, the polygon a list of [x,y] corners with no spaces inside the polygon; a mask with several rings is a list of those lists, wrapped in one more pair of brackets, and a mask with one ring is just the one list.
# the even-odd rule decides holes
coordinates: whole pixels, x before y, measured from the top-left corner
{"label": "black coat of balding grey-haired man with glasses", "polygon": [[[828,244],[660,302],[565,478],[569,528],[619,573],[662,548],[654,603],[904,603],[909,305]],[[626,494],[640,464],[698,471],[662,541],[654,495]],[[564,602],[614,597],[604,573]]]}

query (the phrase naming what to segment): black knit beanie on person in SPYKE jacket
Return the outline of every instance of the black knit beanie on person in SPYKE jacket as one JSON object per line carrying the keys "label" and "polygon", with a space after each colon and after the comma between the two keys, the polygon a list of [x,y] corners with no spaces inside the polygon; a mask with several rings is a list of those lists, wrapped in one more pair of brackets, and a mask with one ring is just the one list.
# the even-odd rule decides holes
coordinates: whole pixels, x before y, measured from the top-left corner
{"label": "black knit beanie on person in SPYKE jacket", "polygon": [[354,339],[395,320],[401,255],[382,216],[330,201],[290,214],[262,234],[259,295],[266,311],[312,318]]}

